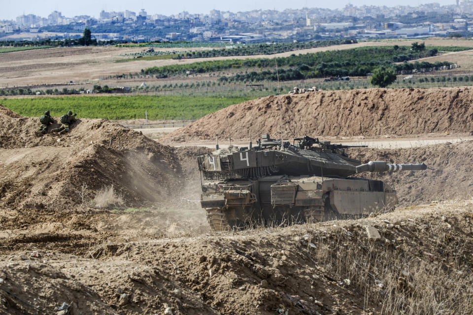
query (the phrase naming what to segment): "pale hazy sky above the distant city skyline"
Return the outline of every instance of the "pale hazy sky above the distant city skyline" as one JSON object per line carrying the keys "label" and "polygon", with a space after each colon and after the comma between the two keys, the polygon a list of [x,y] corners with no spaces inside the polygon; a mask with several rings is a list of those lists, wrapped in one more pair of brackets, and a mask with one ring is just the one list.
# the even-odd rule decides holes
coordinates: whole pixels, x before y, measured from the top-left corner
{"label": "pale hazy sky above the distant city skyline", "polygon": [[347,3],[353,5],[417,5],[423,3],[438,2],[442,5],[455,4],[455,0],[238,0],[238,1],[216,1],[216,0],[2,0],[0,10],[0,20],[12,20],[17,16],[25,14],[36,14],[47,17],[54,10],[60,11],[64,16],[73,17],[75,15],[90,15],[99,17],[99,12],[131,10],[138,12],[145,9],[148,14],[175,14],[183,10],[189,13],[208,13],[212,9],[222,11],[250,11],[254,9],[276,9],[307,7],[341,8]]}

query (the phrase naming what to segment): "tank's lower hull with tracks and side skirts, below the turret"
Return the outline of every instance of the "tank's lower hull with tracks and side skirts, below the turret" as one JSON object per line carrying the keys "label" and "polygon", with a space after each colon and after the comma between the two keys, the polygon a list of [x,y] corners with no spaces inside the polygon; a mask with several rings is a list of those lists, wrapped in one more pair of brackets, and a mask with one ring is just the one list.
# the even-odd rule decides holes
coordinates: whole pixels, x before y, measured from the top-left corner
{"label": "tank's lower hull with tracks and side skirts, below the turret", "polygon": [[201,205],[215,231],[261,225],[358,219],[393,211],[396,192],[382,181],[266,176],[203,184]]}

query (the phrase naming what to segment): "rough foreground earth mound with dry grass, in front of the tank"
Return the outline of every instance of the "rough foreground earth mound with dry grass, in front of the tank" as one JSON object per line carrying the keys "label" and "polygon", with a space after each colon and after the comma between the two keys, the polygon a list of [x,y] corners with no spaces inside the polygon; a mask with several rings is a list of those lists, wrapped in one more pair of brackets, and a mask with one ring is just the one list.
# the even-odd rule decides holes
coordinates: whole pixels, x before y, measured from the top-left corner
{"label": "rough foreground earth mound with dry grass, in front of the tank", "polygon": [[439,202],[356,221],[107,242],[80,257],[23,249],[0,261],[11,293],[0,290],[0,312],[472,314],[472,211],[472,201]]}

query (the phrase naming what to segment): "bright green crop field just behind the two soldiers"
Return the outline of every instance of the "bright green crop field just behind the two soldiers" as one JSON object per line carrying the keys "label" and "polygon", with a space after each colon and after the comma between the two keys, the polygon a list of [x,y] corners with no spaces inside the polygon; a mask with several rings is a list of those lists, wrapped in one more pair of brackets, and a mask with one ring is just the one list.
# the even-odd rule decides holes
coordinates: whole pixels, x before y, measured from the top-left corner
{"label": "bright green crop field just behind the two soldiers", "polygon": [[68,110],[82,118],[137,119],[198,119],[250,97],[218,96],[65,96],[41,98],[3,98],[3,106],[22,116],[38,117],[45,110],[52,116],[61,116]]}

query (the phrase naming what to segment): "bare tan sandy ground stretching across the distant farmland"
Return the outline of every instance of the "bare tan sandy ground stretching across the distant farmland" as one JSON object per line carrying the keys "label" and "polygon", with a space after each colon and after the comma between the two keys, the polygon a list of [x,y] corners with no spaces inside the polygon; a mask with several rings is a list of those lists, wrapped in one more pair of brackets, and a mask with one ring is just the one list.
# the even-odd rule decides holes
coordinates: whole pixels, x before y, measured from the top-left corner
{"label": "bare tan sandy ground stretching across the distant farmland", "polygon": [[[419,41],[419,40],[415,40]],[[350,45],[336,45],[285,52],[277,54],[278,57],[290,56],[293,53],[306,54],[319,51],[350,49],[366,46],[410,45],[414,40],[389,40],[379,42],[361,42]],[[427,39],[426,46],[468,46],[473,47],[473,41],[455,39]],[[206,48],[201,48],[206,49]],[[83,82],[100,80],[108,75],[135,73],[151,66],[162,66],[177,63],[194,63],[199,61],[247,59],[247,58],[273,58],[272,55],[214,57],[187,60],[155,60],[133,61],[116,63],[115,60],[123,59],[127,53],[142,51],[143,48],[118,48],[118,47],[61,47],[23,52],[0,54],[0,87],[30,86],[45,84],[65,84],[69,81]],[[192,49],[164,49],[170,51]],[[464,53],[458,61],[460,66],[469,67],[470,53]],[[442,56],[440,56],[442,57]],[[449,60],[451,61],[451,60]],[[456,61],[456,60],[455,60]]]}

